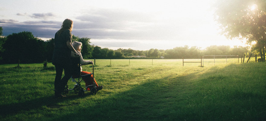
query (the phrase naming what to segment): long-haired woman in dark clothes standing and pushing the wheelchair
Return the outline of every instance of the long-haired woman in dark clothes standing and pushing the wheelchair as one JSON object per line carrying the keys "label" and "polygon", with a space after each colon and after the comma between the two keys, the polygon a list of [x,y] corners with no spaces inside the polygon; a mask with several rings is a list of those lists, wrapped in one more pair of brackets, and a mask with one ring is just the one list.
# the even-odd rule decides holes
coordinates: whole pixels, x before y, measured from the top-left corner
{"label": "long-haired woman in dark clothes standing and pushing the wheelchair", "polygon": [[[54,79],[54,92],[56,98],[64,97],[61,93],[63,92],[67,81],[72,76],[72,69],[70,66],[71,51],[74,52],[75,56],[79,56],[79,54],[71,44],[72,29],[73,29],[73,21],[70,19],[65,19],[61,26],[61,29],[58,30],[54,36],[54,54],[53,54],[52,64],[55,65],[55,70],[56,70],[56,76]],[[65,76],[61,79],[63,69]]]}

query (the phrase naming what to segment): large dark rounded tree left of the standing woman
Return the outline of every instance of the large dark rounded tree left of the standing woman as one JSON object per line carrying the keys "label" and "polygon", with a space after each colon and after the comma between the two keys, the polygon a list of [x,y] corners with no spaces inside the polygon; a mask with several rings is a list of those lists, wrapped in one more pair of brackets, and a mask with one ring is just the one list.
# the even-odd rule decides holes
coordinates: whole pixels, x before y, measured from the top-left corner
{"label": "large dark rounded tree left of the standing woman", "polygon": [[46,43],[31,32],[13,33],[3,44],[3,60],[9,63],[40,63],[46,60]]}

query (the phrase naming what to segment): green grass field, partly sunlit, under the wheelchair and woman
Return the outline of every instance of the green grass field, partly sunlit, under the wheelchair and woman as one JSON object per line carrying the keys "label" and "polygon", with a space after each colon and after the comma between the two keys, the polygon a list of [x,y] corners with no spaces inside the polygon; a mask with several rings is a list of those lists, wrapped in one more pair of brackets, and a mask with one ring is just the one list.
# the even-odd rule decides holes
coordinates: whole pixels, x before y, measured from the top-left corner
{"label": "green grass field, partly sunlit, under the wheelchair and woman", "polygon": [[152,61],[96,60],[104,88],[62,99],[54,99],[52,64],[0,65],[0,120],[266,120],[266,63]]}

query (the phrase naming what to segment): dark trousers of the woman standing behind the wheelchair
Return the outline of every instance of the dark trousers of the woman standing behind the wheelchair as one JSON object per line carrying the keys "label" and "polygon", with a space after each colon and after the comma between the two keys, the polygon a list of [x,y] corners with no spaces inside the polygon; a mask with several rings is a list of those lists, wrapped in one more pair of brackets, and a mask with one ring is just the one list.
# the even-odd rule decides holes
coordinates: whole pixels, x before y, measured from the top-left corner
{"label": "dark trousers of the woman standing behind the wheelchair", "polygon": [[[64,69],[65,76],[61,79]],[[56,64],[55,65],[56,76],[54,79],[54,91],[55,93],[62,93],[67,81],[72,76],[72,69],[70,64]]]}

